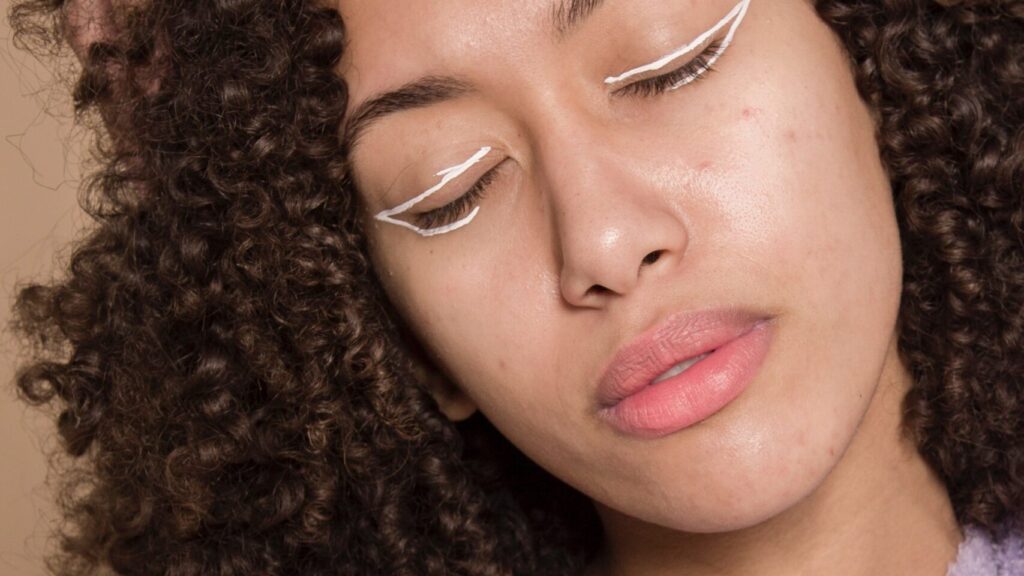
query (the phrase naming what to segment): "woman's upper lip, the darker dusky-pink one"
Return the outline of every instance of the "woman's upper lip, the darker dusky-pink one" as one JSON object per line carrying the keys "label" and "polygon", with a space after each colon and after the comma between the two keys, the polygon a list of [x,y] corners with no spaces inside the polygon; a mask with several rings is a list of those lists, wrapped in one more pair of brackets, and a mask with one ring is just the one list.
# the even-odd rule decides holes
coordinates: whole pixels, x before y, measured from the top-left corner
{"label": "woman's upper lip, the darker dusky-pink one", "polygon": [[598,384],[598,402],[614,406],[676,364],[735,340],[765,319],[742,310],[674,314],[615,353]]}

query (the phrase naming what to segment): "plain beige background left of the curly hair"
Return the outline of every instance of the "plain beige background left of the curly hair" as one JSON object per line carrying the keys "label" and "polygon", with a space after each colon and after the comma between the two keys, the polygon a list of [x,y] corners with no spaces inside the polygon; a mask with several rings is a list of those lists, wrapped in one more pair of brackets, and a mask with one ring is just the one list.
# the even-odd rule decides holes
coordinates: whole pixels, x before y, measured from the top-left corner
{"label": "plain beige background left of the curly hair", "polygon": [[[45,280],[55,258],[87,225],[77,204],[84,130],[46,66],[11,45],[0,0],[0,325],[17,283]],[[69,65],[69,63],[66,63]],[[17,346],[0,334],[0,576],[45,574],[50,525],[44,450],[54,449],[49,416],[14,396]]]}

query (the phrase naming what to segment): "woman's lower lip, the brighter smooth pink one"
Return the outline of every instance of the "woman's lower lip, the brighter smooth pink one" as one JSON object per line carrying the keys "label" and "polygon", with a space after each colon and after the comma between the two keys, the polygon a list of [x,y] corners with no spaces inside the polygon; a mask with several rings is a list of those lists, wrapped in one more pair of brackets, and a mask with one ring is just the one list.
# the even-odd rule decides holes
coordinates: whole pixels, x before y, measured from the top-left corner
{"label": "woman's lower lip, the brighter smooth pink one", "polygon": [[650,384],[602,408],[600,414],[612,427],[641,438],[659,438],[692,426],[742,394],[757,375],[770,342],[771,324],[756,324],[682,374]]}

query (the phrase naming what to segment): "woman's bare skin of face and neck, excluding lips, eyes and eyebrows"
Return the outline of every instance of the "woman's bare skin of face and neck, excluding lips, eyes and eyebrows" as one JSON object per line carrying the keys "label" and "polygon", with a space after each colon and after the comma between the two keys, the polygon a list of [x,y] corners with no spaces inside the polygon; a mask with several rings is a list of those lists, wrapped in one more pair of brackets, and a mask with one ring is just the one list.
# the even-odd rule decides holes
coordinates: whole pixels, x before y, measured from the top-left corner
{"label": "woman's bare skin of face and neck, excluding lips, eyes and eyebrows", "polygon": [[[551,0],[342,3],[352,106],[423,75],[474,86],[360,138],[374,263],[461,393],[442,409],[478,408],[594,499],[608,538],[595,574],[836,562],[938,574],[958,535],[942,486],[897,431],[909,384],[893,339],[899,236],[836,39],[802,0],[752,3],[700,82],[629,97],[603,83],[733,5],[609,0],[560,38]],[[494,152],[441,199],[509,160],[472,225],[424,239],[369,217],[429,186],[438,151],[481,146]],[[739,398],[657,439],[599,417],[616,349],[670,314],[724,306],[774,322]],[[889,531],[916,534],[916,547],[887,557]],[[772,547],[779,534],[794,547]],[[735,546],[744,553],[724,552]],[[858,564],[865,553],[879,560]]]}

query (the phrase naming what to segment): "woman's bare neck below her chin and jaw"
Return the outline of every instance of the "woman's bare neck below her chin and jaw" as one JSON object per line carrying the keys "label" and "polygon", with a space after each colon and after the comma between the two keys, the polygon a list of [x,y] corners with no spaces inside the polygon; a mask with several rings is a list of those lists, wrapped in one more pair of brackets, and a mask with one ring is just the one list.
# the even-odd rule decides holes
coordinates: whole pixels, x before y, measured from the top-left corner
{"label": "woman's bare neck below her chin and jaw", "polygon": [[682,533],[598,506],[592,576],[944,576],[963,531],[945,486],[901,431],[910,376],[895,347],[846,453],[798,505],[727,533]]}

